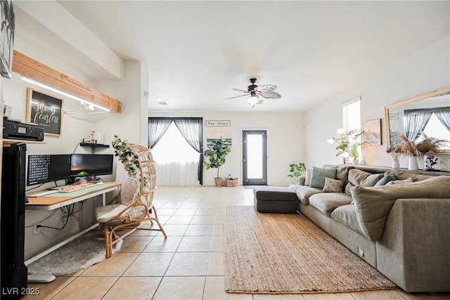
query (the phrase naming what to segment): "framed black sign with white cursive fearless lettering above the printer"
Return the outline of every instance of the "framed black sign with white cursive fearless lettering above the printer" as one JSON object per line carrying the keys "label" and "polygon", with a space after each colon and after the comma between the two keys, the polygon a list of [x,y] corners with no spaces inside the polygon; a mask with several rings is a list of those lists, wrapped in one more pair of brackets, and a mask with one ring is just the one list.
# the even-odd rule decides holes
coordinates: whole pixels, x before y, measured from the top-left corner
{"label": "framed black sign with white cursive fearless lettering above the printer", "polygon": [[44,126],[44,134],[48,136],[61,136],[63,99],[28,88],[26,121]]}

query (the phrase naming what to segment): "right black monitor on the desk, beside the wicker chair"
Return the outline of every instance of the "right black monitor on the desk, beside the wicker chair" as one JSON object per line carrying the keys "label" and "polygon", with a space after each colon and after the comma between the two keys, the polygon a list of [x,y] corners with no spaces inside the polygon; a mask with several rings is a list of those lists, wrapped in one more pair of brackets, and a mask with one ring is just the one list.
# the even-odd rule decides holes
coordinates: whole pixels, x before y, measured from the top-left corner
{"label": "right black monitor on the desk, beside the wicker chair", "polygon": [[112,154],[72,154],[70,176],[113,174]]}

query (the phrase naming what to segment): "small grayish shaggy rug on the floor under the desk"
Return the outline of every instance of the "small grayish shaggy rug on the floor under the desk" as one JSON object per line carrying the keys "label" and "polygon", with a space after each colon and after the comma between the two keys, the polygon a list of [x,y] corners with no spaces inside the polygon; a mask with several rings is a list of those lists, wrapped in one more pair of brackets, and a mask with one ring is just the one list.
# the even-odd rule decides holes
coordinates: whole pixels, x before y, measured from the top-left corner
{"label": "small grayish shaggy rug on the floor under the desk", "polygon": [[[120,250],[122,240],[113,245],[113,253]],[[84,270],[105,260],[105,235],[91,230],[63,247],[30,263],[29,275],[62,276]]]}

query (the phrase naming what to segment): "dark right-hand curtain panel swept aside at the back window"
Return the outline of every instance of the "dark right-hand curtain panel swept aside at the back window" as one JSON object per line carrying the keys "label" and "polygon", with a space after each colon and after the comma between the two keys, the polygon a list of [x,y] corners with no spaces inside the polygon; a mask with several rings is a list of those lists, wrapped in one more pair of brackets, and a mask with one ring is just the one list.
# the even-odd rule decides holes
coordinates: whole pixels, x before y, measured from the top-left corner
{"label": "dark right-hand curtain panel swept aside at the back window", "polygon": [[197,178],[203,185],[203,118],[173,118],[173,121],[188,144],[198,152]]}

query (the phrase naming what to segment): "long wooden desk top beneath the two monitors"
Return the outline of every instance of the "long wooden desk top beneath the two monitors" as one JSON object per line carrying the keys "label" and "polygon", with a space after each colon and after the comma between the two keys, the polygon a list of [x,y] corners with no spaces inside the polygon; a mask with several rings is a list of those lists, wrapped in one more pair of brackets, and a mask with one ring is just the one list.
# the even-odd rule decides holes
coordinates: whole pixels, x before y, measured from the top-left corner
{"label": "long wooden desk top beneath the two monitors", "polygon": [[28,197],[28,202],[26,205],[58,204],[61,202],[66,202],[68,200],[75,199],[77,197],[94,194],[96,192],[101,192],[101,191],[107,190],[109,188],[116,188],[118,186],[120,186],[120,182],[107,182],[103,185],[94,185],[94,186],[91,186],[90,188],[84,188],[82,190],[77,190],[72,193],[54,193],[54,194],[45,195],[42,197]]}

